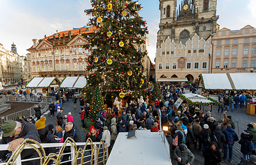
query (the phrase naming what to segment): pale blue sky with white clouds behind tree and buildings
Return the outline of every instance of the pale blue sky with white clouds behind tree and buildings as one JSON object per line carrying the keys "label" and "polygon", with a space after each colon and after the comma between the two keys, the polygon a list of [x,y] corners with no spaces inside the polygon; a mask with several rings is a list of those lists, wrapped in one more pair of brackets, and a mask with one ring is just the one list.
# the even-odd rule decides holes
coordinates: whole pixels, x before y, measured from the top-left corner
{"label": "pale blue sky with white clouds behind tree and buildings", "polygon": [[[140,16],[149,27],[149,57],[154,63],[156,34],[160,22],[159,0],[138,0]],[[181,0],[178,0],[178,5]],[[255,0],[217,0],[217,23],[220,29],[239,30],[246,25],[256,27]],[[28,53],[32,39],[43,39],[58,31],[81,28],[89,18],[84,10],[92,8],[89,0],[0,0],[0,43],[6,50],[17,46],[21,56]]]}

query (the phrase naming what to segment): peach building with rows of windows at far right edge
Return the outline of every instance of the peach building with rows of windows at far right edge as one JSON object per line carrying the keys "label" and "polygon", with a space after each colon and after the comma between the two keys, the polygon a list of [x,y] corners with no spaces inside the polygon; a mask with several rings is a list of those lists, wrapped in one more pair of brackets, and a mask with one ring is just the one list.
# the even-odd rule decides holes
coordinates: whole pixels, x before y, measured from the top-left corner
{"label": "peach building with rows of windows at far right edge", "polygon": [[256,69],[256,30],[246,25],[240,30],[222,28],[213,35],[213,74],[249,73]]}

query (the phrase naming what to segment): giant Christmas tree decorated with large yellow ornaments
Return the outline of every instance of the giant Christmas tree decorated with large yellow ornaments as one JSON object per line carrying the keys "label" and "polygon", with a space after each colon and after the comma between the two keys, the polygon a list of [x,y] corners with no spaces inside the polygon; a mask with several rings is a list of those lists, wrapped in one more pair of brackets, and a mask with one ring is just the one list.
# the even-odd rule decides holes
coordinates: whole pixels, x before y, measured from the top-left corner
{"label": "giant Christmas tree decorated with large yellow ornaments", "polygon": [[96,85],[101,85],[103,96],[108,100],[125,96],[130,91],[133,98],[145,96],[146,77],[143,76],[143,58],[140,52],[145,44],[142,36],[147,35],[146,22],[139,17],[142,7],[132,0],[94,0],[92,9],[85,10],[90,15],[88,25],[96,26],[87,39],[85,49],[91,50],[88,57],[89,73],[83,92],[91,98]]}

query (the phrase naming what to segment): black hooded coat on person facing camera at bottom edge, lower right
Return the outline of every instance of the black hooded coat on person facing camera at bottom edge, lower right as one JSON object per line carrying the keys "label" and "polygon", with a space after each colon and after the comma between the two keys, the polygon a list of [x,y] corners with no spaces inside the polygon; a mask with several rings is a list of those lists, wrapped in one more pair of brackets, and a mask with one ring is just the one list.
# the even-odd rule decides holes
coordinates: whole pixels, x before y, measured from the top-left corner
{"label": "black hooded coat on person facing camera at bottom edge, lower right", "polygon": [[[216,151],[211,149],[212,144],[215,144]],[[218,151],[216,142],[211,142],[211,145],[204,149],[204,165],[217,165],[222,162],[222,153]]]}

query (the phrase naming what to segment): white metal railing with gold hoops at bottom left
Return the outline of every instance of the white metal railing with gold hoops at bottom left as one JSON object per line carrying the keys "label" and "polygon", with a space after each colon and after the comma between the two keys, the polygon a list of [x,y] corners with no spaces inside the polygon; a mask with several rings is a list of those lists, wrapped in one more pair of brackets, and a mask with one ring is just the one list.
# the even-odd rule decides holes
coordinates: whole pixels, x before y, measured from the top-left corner
{"label": "white metal railing with gold hoops at bottom left", "polygon": [[[8,144],[0,144],[0,151],[7,151]],[[79,148],[78,148],[79,146]],[[45,154],[45,148],[56,148],[56,153]],[[66,147],[70,148],[70,152],[65,150]],[[27,149],[34,149],[34,153],[38,153],[38,157],[21,159],[21,152]],[[105,164],[109,157],[108,147],[103,140],[100,142],[92,142],[89,138],[86,142],[74,142],[70,137],[64,143],[42,143],[39,144],[35,140],[24,140],[15,151],[12,151],[12,156],[8,162],[0,162],[0,165],[21,165],[21,162],[38,161],[39,164],[64,164],[71,162],[71,164]],[[67,161],[63,162],[63,156],[69,157]]]}

